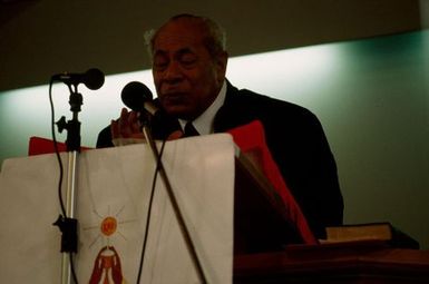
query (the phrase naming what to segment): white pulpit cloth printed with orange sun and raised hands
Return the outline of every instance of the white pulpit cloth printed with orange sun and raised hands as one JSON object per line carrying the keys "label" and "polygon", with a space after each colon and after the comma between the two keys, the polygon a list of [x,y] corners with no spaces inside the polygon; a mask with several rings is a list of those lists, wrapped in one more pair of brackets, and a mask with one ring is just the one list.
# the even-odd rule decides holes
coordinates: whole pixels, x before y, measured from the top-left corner
{"label": "white pulpit cloth printed with orange sun and raised hands", "polygon": [[[61,157],[67,173],[67,154]],[[232,283],[232,137],[218,134],[168,141],[163,163],[208,283]],[[136,282],[155,164],[148,145],[79,155],[76,204],[79,251],[75,259],[79,283],[90,283],[96,266],[101,273],[99,282],[108,277],[108,283],[115,283],[113,274],[118,270],[123,283]],[[59,283],[60,232],[51,225],[60,214],[57,184],[53,154],[3,163],[2,282]],[[107,252],[100,253],[106,246],[114,247],[117,254],[114,264],[106,261]],[[106,259],[97,258],[99,253]],[[119,266],[116,259],[120,261]],[[159,175],[140,283],[199,283]]]}

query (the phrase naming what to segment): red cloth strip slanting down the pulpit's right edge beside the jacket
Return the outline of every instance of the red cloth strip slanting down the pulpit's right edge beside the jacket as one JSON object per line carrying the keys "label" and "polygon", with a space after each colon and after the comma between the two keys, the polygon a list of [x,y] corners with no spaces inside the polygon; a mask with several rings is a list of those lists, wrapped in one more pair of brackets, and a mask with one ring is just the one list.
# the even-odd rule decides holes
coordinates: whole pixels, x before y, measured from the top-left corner
{"label": "red cloth strip slanting down the pulpit's right edge beside the jacket", "polygon": [[257,156],[263,174],[283,200],[286,217],[295,224],[304,243],[318,244],[300,206],[292,196],[277,165],[271,156],[265,143],[265,133],[262,123],[254,120],[247,125],[228,130],[228,133],[233,136],[235,144],[244,154],[252,153]]}

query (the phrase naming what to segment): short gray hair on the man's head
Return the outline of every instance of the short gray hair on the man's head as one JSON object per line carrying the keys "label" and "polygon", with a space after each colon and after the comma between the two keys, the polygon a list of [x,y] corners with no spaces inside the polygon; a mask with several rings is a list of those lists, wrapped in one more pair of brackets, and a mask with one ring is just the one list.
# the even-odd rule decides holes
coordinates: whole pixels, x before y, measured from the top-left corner
{"label": "short gray hair on the man's head", "polygon": [[[216,57],[222,52],[226,52],[226,32],[218,23],[216,23],[209,18],[194,16],[189,13],[181,13],[174,16],[166,23],[181,19],[189,19],[202,23],[203,29],[205,29],[205,31],[207,32],[207,37],[205,37],[204,39],[204,45],[206,46],[212,57]],[[155,39],[163,27],[164,26],[162,26],[157,30],[152,29],[145,32],[145,43],[147,46],[150,58],[154,53]]]}

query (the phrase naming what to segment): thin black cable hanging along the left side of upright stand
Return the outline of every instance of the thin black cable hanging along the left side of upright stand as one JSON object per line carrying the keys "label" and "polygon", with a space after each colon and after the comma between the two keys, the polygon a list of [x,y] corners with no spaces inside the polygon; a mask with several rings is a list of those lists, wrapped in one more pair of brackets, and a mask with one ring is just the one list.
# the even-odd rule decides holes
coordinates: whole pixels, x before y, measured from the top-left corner
{"label": "thin black cable hanging along the left side of upright stand", "polygon": [[[62,195],[61,195],[61,187],[62,187],[62,180],[64,180],[64,166],[62,166],[61,156],[59,154],[59,149],[58,149],[58,145],[57,145],[57,136],[56,136],[56,131],[55,131],[56,123],[55,123],[55,107],[53,107],[53,99],[52,99],[52,85],[53,85],[53,79],[51,78],[49,81],[49,105],[50,105],[50,115],[51,115],[51,135],[52,135],[52,141],[53,141],[53,149],[55,149],[55,154],[56,154],[58,166],[59,166],[58,199],[59,199],[59,204],[61,207],[62,216],[64,216],[64,218],[67,218],[66,207],[64,205],[64,199],[62,199]],[[68,86],[68,87],[71,91],[70,86]],[[75,271],[74,257],[72,257],[71,252],[69,252],[69,258],[70,258],[71,276],[72,276],[75,283],[78,284],[77,274]]]}

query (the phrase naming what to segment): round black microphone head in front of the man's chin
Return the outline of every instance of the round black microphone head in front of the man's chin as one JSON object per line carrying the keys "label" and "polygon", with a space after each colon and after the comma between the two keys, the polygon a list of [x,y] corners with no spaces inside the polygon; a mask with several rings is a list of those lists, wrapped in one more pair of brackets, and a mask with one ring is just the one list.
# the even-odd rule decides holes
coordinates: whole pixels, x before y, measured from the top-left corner
{"label": "round black microphone head in front of the man's chin", "polygon": [[143,82],[131,81],[125,85],[120,98],[125,106],[142,112],[145,102],[152,101],[152,91]]}

